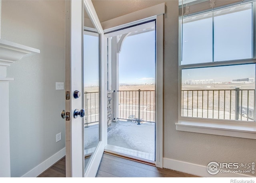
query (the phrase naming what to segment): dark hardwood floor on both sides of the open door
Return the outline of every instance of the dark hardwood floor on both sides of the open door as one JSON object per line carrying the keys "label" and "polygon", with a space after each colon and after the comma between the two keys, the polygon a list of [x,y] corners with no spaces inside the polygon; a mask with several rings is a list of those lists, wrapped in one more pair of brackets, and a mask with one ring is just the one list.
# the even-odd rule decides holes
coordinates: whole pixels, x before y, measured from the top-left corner
{"label": "dark hardwood floor on both sides of the open door", "polygon": [[[38,177],[65,177],[65,157]],[[96,177],[198,177],[104,153]]]}

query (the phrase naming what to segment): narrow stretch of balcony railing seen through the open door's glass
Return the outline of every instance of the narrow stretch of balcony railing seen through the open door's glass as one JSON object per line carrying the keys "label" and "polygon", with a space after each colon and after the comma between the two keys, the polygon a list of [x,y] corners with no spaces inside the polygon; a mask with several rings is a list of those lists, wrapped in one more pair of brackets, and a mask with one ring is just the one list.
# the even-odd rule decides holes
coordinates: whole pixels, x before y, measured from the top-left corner
{"label": "narrow stretch of balcony railing seen through the open door's glass", "polygon": [[84,126],[99,122],[99,92],[84,92]]}

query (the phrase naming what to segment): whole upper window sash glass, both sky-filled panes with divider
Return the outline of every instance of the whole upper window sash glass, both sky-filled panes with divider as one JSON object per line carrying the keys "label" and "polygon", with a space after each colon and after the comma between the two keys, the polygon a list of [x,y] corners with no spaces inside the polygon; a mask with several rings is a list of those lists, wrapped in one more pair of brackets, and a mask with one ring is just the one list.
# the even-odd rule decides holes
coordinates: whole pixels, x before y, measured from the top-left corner
{"label": "whole upper window sash glass, both sky-filled panes with divider", "polygon": [[252,58],[252,4],[180,20],[181,65]]}

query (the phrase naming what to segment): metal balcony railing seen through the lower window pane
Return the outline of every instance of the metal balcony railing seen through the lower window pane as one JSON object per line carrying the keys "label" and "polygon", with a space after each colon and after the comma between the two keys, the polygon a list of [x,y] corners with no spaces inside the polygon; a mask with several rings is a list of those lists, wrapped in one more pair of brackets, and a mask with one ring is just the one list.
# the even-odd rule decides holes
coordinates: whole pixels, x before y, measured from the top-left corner
{"label": "metal balcony railing seen through the lower window pane", "polygon": [[182,90],[181,116],[255,120],[255,90]]}

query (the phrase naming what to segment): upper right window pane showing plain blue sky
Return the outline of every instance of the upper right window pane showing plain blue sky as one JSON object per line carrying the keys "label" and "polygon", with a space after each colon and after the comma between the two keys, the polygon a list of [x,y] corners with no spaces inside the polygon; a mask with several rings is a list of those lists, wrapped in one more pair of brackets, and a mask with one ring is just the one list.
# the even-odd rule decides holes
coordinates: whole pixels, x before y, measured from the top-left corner
{"label": "upper right window pane showing plain blue sky", "polygon": [[252,4],[214,12],[214,61],[252,58]]}

